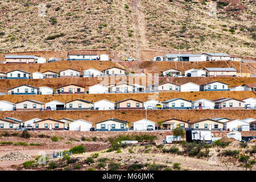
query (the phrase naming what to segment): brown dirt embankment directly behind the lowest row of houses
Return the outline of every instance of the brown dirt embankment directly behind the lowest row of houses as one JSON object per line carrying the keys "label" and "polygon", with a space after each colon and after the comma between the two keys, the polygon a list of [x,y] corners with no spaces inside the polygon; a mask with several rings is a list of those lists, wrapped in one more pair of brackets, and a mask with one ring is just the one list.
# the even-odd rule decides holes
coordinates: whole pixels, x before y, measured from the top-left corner
{"label": "brown dirt embankment directly behind the lowest row of houses", "polygon": [[[0,118],[14,117],[27,121],[32,118],[84,119],[93,123],[109,118],[127,120],[129,123],[146,118],[145,110],[85,110],[85,111],[1,111]],[[169,118],[197,121],[201,118],[225,117],[230,119],[255,118],[254,110],[147,110],[147,119],[158,122]],[[131,125],[131,124],[130,124]]]}

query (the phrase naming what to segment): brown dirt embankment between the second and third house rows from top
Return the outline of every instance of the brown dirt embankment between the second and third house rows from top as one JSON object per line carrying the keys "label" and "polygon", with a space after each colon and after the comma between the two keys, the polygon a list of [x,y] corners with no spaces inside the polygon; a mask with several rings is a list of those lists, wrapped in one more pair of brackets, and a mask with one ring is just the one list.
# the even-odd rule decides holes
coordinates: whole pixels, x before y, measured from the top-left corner
{"label": "brown dirt embankment between the second and third house rows from top", "polygon": [[[135,79],[136,78],[136,79]],[[143,79],[142,79],[143,78]],[[150,78],[146,80],[146,77],[142,76],[130,76],[130,77],[115,77],[115,84],[121,82],[128,82],[129,84],[135,84],[135,80],[139,80],[139,84],[142,85],[151,85],[158,82],[158,78]],[[156,79],[156,80],[155,80]],[[103,85],[110,84],[110,77],[85,77],[85,78],[44,78],[44,79],[6,79],[1,80],[0,92],[7,92],[7,89],[14,88],[19,85],[31,85],[39,88],[40,86],[48,86],[50,88],[57,88],[59,86],[76,84],[84,86],[88,90],[89,86],[101,83]],[[142,82],[143,80],[143,82]],[[148,81],[148,83],[147,83]],[[185,84],[187,82],[194,82],[195,84],[206,84],[212,81],[220,81],[230,86],[243,85],[243,84],[255,84],[256,77],[185,77],[185,78],[176,78],[176,77],[159,77],[159,82],[172,82],[174,84]]]}

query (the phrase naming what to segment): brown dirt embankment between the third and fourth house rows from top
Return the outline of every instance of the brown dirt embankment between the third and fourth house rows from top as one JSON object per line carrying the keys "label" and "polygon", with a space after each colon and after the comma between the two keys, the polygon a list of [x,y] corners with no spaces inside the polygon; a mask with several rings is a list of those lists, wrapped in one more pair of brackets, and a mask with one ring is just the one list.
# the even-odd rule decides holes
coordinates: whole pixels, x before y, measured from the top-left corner
{"label": "brown dirt embankment between the third and fourth house rows from top", "polygon": [[69,102],[75,99],[87,100],[90,102],[100,101],[106,99],[112,102],[117,102],[125,100],[126,98],[134,98],[145,102],[147,100],[159,100],[167,101],[172,98],[184,98],[185,100],[199,100],[200,98],[205,98],[208,100],[213,100],[216,98],[236,98],[242,100],[248,97],[256,98],[256,93],[251,91],[209,91],[209,92],[159,92],[159,93],[129,93],[129,94],[55,94],[55,95],[0,95],[0,101],[5,100],[9,102],[20,102],[27,99],[41,101],[44,103],[57,100],[61,102]]}

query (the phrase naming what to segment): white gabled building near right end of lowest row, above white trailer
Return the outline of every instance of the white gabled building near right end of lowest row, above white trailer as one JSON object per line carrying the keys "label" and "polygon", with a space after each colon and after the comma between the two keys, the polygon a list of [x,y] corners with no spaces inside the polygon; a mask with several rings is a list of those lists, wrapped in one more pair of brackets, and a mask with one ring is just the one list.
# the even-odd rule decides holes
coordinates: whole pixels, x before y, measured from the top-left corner
{"label": "white gabled building near right end of lowest row, above white trailer", "polygon": [[250,131],[250,123],[241,119],[233,119],[224,122],[223,129],[228,131]]}

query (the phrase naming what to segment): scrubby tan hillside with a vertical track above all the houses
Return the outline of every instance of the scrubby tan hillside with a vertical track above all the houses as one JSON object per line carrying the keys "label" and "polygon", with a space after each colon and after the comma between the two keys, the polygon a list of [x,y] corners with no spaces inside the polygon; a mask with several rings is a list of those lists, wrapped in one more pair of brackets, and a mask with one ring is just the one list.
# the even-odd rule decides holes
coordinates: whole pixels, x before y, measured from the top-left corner
{"label": "scrubby tan hillside with a vertical track above all the houses", "polygon": [[110,49],[138,59],[141,49],[177,51],[180,43],[183,51],[255,56],[251,0],[39,3],[1,1],[1,52]]}

